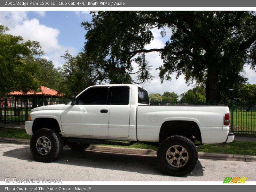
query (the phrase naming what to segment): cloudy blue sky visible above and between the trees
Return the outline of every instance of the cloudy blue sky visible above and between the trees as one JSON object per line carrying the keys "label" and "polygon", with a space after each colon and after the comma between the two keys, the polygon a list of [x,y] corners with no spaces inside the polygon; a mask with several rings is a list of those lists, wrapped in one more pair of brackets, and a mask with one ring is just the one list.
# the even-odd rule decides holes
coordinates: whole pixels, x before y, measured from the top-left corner
{"label": "cloudy blue sky visible above and between the trees", "polygon": [[[60,56],[68,50],[70,54],[76,55],[84,47],[84,35],[86,31],[81,27],[81,22],[91,21],[89,11],[0,11],[0,25],[10,28],[9,33],[20,35],[25,40],[35,40],[43,46],[44,58],[52,60],[55,67],[63,65],[64,60]],[[171,36],[171,30],[166,28],[166,37],[162,38],[160,31],[152,30],[154,40],[146,45],[146,49],[164,47],[167,37]],[[172,75],[172,82],[160,83],[158,71],[155,69],[163,64],[158,52],[146,54],[146,59],[153,66],[152,74],[155,77],[152,82],[142,84],[150,93],[163,93],[165,91],[181,94],[193,88],[187,85],[184,76],[176,80]],[[136,63],[133,63],[136,70]],[[248,66],[244,68],[243,75],[248,82],[256,84],[256,73]]]}

